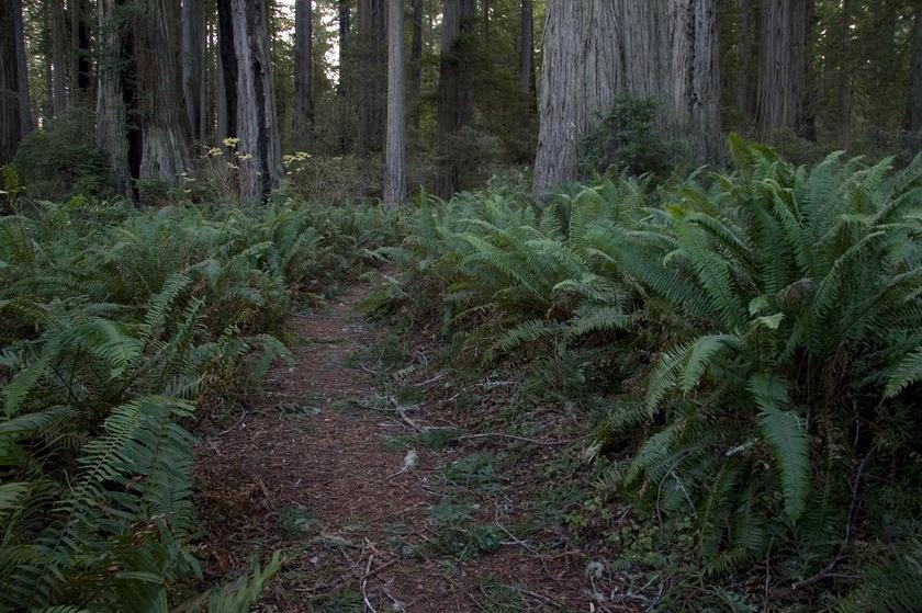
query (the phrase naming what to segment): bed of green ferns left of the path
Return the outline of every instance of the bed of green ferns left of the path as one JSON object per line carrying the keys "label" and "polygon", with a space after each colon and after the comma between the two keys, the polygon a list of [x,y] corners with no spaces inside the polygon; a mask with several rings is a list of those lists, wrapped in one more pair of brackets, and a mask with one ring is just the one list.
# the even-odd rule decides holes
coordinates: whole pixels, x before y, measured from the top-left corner
{"label": "bed of green ferns left of the path", "polygon": [[[0,610],[177,604],[171,588],[200,572],[195,400],[238,385],[248,354],[252,377],[285,359],[290,310],[394,227],[374,207],[290,201],[77,197],[0,218]],[[249,611],[278,565],[196,606]]]}

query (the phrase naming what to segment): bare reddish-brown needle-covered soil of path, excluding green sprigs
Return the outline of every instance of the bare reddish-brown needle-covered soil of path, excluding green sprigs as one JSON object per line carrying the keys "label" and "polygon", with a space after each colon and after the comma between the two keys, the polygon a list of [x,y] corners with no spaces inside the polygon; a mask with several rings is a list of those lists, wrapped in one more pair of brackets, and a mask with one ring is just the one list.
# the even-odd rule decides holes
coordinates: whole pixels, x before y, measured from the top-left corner
{"label": "bare reddish-brown needle-covered soil of path, excluding green sprigs", "polygon": [[[285,565],[262,611],[618,611],[611,601],[591,606],[600,589],[585,574],[591,558],[560,529],[510,537],[466,561],[435,546],[439,468],[485,442],[446,452],[417,446],[415,467],[402,470],[406,451],[387,438],[413,434],[417,422],[445,423],[446,409],[424,404],[405,420],[368,406],[378,391],[371,368],[349,365],[373,340],[355,306],[367,291],[355,286],[325,310],[295,318],[304,342],[294,364],[276,366],[245,411],[202,436],[206,579],[234,577],[281,549]],[[476,513],[511,525],[527,496],[510,483],[520,477],[504,477]]]}

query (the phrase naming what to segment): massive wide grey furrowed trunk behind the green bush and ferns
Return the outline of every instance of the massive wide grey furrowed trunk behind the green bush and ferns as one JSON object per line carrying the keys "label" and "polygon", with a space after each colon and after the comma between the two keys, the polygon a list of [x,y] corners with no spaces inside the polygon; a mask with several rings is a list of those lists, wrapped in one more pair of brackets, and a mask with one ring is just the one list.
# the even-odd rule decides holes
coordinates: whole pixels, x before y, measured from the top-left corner
{"label": "massive wide grey furrowed trunk behind the green bush and ferns", "polygon": [[578,179],[580,140],[621,92],[660,103],[696,163],[721,157],[717,0],[549,0],[535,191]]}

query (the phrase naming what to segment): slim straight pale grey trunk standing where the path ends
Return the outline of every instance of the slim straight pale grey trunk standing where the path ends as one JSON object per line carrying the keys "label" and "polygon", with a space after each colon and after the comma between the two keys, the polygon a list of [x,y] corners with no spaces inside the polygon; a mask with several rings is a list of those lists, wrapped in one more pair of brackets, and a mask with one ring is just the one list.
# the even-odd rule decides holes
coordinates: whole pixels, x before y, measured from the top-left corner
{"label": "slim straight pale grey trunk standing where the path ends", "polygon": [[387,143],[384,204],[395,206],[406,200],[404,5],[403,0],[387,0]]}

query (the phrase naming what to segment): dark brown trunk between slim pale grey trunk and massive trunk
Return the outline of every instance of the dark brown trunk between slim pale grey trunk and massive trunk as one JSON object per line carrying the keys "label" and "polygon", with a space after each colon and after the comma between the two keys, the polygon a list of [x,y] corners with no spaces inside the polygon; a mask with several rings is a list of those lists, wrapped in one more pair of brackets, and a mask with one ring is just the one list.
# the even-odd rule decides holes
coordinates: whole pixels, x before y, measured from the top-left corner
{"label": "dark brown trunk between slim pale grey trunk and massive trunk", "polygon": [[436,195],[451,197],[461,177],[452,137],[471,124],[474,115],[471,35],[476,16],[474,0],[445,0],[441,60],[439,63],[438,144]]}

